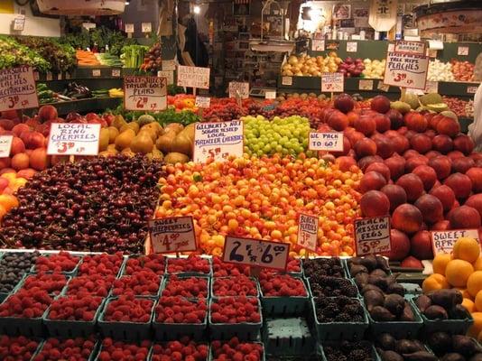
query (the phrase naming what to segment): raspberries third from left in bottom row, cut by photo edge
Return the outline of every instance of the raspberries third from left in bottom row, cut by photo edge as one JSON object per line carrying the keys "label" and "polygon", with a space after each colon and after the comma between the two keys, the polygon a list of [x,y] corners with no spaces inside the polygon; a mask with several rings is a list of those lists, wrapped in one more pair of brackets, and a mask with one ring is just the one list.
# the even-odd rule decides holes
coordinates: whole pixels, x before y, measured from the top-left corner
{"label": "raspberries third from left in bottom row, cut by photo edge", "polygon": [[134,344],[114,341],[112,338],[104,338],[102,349],[97,359],[99,361],[144,361],[147,359],[150,347],[150,341]]}

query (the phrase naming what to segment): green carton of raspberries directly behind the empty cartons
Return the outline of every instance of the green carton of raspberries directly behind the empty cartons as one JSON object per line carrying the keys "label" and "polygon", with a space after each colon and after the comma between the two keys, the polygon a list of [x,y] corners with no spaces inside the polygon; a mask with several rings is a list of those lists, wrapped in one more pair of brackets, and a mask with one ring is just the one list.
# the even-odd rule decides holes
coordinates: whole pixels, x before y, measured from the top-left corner
{"label": "green carton of raspberries directly behind the empty cartons", "polygon": [[300,277],[297,278],[303,284],[306,296],[264,296],[260,285],[261,304],[265,316],[301,316],[307,310],[310,302],[310,293],[305,282]]}

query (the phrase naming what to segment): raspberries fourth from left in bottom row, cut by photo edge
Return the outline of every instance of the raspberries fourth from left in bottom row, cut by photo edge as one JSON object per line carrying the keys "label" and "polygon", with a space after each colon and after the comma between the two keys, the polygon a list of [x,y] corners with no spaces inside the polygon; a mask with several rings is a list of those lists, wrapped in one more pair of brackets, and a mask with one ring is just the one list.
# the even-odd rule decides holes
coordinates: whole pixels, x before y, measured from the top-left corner
{"label": "raspberries fourth from left in bottom row, cut by photo edge", "polygon": [[[153,344],[152,361],[206,361],[209,347],[197,344],[190,338],[181,338],[179,341],[170,341],[163,344]],[[175,357],[175,358],[174,358]]]}

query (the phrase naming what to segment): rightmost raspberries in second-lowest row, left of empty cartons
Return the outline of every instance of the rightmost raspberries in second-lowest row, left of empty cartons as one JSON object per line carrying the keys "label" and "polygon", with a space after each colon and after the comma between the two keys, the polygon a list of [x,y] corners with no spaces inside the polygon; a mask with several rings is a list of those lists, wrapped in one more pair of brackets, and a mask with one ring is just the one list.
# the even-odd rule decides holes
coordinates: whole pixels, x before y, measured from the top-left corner
{"label": "rightmost raspberries in second-lowest row, left of empty cartons", "polygon": [[213,323],[256,323],[261,320],[255,297],[222,297],[211,303]]}

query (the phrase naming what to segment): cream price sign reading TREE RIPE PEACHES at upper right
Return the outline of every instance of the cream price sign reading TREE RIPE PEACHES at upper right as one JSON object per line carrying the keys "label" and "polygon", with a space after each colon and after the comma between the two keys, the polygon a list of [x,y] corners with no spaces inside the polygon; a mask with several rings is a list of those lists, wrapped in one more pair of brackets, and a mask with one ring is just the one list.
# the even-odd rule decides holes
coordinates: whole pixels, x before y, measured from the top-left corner
{"label": "cream price sign reading TREE RIPE PEACHES at upper right", "polygon": [[386,55],[384,83],[423,90],[428,69],[429,57],[389,51]]}

